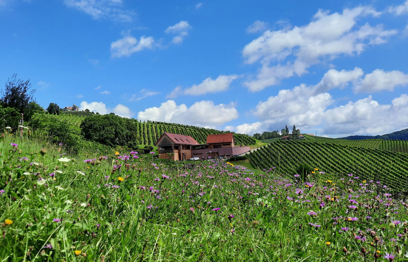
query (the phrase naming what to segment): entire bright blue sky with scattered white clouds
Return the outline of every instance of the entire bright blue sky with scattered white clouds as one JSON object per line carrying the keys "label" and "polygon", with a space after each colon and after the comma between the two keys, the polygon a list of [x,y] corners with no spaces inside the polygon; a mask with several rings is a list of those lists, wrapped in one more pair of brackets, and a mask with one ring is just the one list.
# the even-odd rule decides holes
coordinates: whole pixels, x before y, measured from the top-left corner
{"label": "entire bright blue sky with scattered white clouds", "polygon": [[0,79],[43,107],[247,134],[408,128],[408,0],[0,0]]}

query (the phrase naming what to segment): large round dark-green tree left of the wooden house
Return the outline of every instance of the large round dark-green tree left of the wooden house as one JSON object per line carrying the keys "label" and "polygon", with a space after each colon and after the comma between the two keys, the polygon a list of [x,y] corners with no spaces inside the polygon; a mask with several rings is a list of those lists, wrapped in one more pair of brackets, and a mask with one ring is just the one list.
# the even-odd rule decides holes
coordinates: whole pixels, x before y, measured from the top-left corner
{"label": "large round dark-green tree left of the wooden house", "polygon": [[89,116],[82,121],[80,128],[86,139],[91,139],[106,146],[135,147],[140,143],[136,125],[127,118],[115,115]]}

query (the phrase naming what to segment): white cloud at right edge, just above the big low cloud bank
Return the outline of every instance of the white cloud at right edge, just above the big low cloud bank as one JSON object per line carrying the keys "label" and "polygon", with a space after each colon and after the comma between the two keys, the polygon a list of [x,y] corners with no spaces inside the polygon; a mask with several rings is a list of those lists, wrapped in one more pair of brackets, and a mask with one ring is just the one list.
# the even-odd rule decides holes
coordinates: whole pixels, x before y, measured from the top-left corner
{"label": "white cloud at right edge, just above the big low cloud bank", "polygon": [[359,85],[354,87],[355,92],[373,93],[382,90],[392,91],[394,87],[408,84],[408,74],[401,71],[384,72],[382,69],[375,69],[372,73],[366,74]]}

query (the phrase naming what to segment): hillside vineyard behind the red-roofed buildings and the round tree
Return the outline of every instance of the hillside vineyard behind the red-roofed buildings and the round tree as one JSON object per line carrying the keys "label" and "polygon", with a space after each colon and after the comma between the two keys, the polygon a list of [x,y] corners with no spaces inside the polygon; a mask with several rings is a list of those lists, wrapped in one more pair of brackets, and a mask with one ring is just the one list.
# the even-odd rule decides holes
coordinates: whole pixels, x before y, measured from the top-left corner
{"label": "hillside vineyard behind the red-roofed buildings and the round tree", "polygon": [[[78,113],[85,113],[82,116]],[[65,112],[60,115],[51,115],[52,117],[58,119],[59,121],[64,121],[71,125],[79,126],[86,116],[95,116],[92,113],[87,112]],[[222,134],[226,133],[224,131],[210,129],[210,128],[199,128],[193,125],[182,125],[175,123],[165,123],[165,122],[155,122],[155,121],[137,121],[137,119],[132,119],[136,124],[136,130],[140,136],[142,145],[153,145],[164,132],[183,134],[193,137],[198,143],[205,143],[208,134]],[[246,134],[235,134],[234,139],[236,145],[254,145],[256,140]]]}

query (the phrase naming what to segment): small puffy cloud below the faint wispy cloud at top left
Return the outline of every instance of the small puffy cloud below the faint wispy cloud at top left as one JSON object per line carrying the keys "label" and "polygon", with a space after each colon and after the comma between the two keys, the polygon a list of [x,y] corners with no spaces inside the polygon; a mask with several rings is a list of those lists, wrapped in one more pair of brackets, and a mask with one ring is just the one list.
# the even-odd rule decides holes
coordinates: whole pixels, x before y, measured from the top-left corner
{"label": "small puffy cloud below the faint wispy cloud at top left", "polygon": [[154,44],[155,40],[153,36],[141,36],[140,40],[137,40],[133,36],[124,36],[111,43],[111,56],[131,56],[131,54],[140,52],[143,49],[153,49]]}

